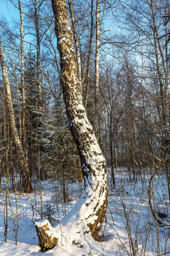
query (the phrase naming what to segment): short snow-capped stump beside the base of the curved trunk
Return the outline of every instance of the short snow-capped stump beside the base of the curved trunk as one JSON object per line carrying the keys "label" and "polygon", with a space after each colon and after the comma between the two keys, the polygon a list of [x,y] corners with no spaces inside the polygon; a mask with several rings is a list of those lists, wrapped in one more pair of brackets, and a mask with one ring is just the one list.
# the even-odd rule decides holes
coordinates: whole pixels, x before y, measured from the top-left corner
{"label": "short snow-capped stump beside the base of the curved trunk", "polygon": [[52,249],[58,241],[57,232],[47,219],[34,223],[42,250]]}

